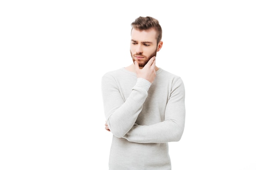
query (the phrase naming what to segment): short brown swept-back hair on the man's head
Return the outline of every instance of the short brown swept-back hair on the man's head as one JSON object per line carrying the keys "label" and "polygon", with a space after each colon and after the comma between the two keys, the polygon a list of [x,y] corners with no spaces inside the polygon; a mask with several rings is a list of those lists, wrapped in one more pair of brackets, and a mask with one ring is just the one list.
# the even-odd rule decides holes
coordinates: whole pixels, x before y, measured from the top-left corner
{"label": "short brown swept-back hair on the man's head", "polygon": [[162,39],[162,28],[159,21],[153,17],[139,17],[131,24],[132,29],[148,30],[155,29],[157,31],[157,44]]}

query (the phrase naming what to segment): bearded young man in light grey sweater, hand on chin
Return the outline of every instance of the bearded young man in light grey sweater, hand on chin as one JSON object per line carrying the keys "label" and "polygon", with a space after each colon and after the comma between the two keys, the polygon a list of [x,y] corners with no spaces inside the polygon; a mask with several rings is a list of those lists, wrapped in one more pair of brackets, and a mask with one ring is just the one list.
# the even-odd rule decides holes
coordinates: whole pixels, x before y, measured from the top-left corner
{"label": "bearded young man in light grey sweater, hand on chin", "polygon": [[102,77],[105,128],[113,134],[109,170],[171,170],[168,142],[184,130],[184,84],[155,65],[158,20],[139,17],[131,26],[133,63]]}

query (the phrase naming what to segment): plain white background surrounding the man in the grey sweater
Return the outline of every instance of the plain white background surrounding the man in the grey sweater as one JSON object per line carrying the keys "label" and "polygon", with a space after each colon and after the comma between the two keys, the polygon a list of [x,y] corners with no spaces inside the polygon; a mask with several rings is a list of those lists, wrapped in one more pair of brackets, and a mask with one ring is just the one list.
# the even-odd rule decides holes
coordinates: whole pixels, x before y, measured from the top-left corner
{"label": "plain white background surrounding the man in the grey sweater", "polygon": [[157,18],[156,65],[182,77],[173,170],[256,170],[254,0],[0,2],[0,169],[108,170],[101,76],[131,64],[130,23]]}

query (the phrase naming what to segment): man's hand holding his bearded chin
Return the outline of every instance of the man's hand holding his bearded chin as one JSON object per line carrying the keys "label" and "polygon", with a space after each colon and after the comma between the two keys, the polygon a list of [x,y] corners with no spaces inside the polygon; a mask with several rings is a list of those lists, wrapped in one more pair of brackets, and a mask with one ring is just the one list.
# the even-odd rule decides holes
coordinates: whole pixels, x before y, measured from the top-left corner
{"label": "man's hand holding his bearded chin", "polygon": [[150,83],[153,83],[156,73],[155,73],[155,56],[150,58],[148,63],[143,67],[139,68],[139,63],[134,62],[135,64],[135,72],[138,78],[144,78],[148,80]]}

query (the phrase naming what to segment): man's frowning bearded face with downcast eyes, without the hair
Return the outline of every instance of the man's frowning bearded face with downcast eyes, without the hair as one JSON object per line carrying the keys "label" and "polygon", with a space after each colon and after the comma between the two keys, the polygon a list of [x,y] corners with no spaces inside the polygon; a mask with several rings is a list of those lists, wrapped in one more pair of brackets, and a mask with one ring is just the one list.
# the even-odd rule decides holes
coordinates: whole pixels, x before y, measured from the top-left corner
{"label": "man's frowning bearded face with downcast eyes, without the hair", "polygon": [[144,67],[150,58],[157,54],[157,32],[154,29],[132,29],[130,53],[133,62],[137,61],[139,67]]}

